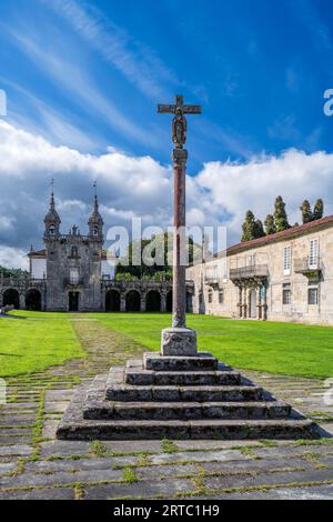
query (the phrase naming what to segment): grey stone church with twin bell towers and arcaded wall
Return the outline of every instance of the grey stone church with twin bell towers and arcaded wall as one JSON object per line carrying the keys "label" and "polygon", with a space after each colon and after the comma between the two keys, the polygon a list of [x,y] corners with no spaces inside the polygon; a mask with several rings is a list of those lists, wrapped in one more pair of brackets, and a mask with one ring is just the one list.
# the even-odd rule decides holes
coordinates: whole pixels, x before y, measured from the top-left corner
{"label": "grey stone church with twin bell towers and arcaded wall", "polygon": [[[44,218],[44,249],[28,253],[29,277],[0,274],[0,305],[43,311],[161,311],[172,310],[171,281],[119,281],[115,259],[103,250],[103,219],[97,195],[88,234],[73,225],[61,233],[53,192]],[[188,283],[189,310],[193,284]]]}

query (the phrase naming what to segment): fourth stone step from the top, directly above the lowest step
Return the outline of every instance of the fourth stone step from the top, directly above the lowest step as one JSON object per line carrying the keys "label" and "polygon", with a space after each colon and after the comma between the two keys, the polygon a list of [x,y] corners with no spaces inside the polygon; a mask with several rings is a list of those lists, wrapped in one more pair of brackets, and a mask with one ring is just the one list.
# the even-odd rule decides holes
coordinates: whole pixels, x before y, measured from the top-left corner
{"label": "fourth stone step from the top, directly above the lowest step", "polygon": [[286,419],[291,408],[269,402],[111,402],[87,401],[84,419],[113,420],[200,420],[200,419]]}

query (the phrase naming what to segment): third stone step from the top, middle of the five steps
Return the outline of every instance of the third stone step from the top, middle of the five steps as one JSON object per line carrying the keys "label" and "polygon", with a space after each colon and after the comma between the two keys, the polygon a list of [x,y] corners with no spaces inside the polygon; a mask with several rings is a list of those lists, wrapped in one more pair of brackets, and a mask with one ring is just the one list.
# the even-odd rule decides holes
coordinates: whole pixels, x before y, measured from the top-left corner
{"label": "third stone step from the top, middle of the five steps", "polygon": [[262,388],[254,385],[133,387],[109,383],[105,399],[115,402],[245,402],[263,399]]}

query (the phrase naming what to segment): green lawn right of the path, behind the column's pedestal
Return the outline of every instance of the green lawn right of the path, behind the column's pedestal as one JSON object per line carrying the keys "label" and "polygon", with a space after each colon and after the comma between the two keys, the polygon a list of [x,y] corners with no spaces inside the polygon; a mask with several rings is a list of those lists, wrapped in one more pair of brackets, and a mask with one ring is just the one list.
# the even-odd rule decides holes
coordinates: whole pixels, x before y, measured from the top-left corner
{"label": "green lawn right of the path, behind the column's pedestal", "polygon": [[[90,314],[108,328],[125,333],[150,350],[160,349],[167,314]],[[292,323],[233,321],[190,315],[199,348],[240,369],[326,378],[333,375],[333,328]]]}

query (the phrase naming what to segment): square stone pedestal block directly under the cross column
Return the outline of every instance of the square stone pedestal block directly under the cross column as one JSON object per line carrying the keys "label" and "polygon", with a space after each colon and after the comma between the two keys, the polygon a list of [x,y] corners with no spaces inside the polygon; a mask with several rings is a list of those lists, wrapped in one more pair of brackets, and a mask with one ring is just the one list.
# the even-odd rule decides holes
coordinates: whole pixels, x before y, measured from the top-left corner
{"label": "square stone pedestal block directly under the cross column", "polygon": [[162,330],[162,355],[194,357],[198,354],[196,334],[189,328]]}

